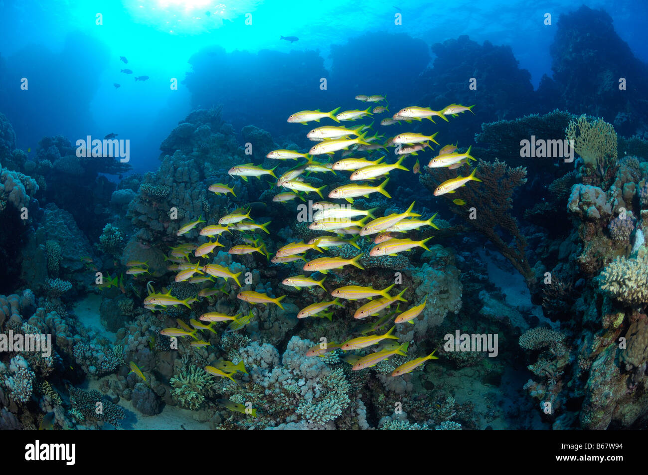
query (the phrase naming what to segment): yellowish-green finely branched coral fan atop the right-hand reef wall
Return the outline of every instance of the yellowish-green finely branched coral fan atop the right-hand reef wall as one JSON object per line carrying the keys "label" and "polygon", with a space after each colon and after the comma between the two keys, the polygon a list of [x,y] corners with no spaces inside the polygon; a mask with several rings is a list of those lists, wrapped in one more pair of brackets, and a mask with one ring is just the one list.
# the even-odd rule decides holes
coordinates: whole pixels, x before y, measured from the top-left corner
{"label": "yellowish-green finely branched coral fan atop the right-hand reef wall", "polygon": [[616,163],[616,132],[612,124],[603,119],[589,122],[583,114],[569,122],[565,133],[586,167],[594,168],[599,176],[605,176],[605,170]]}

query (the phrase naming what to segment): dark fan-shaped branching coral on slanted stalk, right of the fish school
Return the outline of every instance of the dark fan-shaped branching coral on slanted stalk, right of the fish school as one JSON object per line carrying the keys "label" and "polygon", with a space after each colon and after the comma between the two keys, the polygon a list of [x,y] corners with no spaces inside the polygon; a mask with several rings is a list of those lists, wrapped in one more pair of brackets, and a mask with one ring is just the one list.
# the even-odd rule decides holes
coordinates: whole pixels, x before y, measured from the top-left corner
{"label": "dark fan-shaped branching coral on slanted stalk, right of the fish school", "polygon": [[[535,275],[524,253],[526,238],[520,233],[516,219],[509,213],[513,207],[513,193],[517,187],[526,183],[526,173],[525,167],[511,168],[499,160],[480,160],[476,175],[483,183],[469,183],[457,189],[456,193],[444,196],[447,197],[452,212],[491,240],[498,251],[524,276],[527,286],[531,286],[535,282]],[[421,183],[428,190],[434,191],[437,183],[455,176],[456,172],[452,170],[428,168],[428,172],[421,176]],[[456,198],[464,200],[467,205],[464,207],[454,204]],[[470,219],[469,209],[472,207],[476,210],[475,219]],[[511,244],[507,244],[500,236],[502,231],[513,238]]]}

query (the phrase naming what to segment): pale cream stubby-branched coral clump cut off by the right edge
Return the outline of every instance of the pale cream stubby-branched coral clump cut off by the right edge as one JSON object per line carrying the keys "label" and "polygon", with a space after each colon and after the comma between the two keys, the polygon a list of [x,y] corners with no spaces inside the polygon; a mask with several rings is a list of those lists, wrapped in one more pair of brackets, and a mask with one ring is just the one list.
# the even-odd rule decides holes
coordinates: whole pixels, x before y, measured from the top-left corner
{"label": "pale cream stubby-branched coral clump cut off by the right edge", "polygon": [[619,257],[601,272],[601,290],[629,305],[648,303],[648,255],[638,259]]}

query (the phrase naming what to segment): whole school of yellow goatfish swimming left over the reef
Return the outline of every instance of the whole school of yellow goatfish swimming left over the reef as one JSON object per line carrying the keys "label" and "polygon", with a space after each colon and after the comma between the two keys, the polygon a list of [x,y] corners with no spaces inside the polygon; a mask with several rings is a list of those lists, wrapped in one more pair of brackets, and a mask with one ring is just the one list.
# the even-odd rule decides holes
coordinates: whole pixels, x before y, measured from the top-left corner
{"label": "whole school of yellow goatfish swimming left over the reef", "polygon": [[[386,104],[386,98],[380,95],[358,95],[356,96],[356,100],[362,102],[385,102]],[[466,107],[461,106],[460,104],[450,104],[450,106],[447,106],[442,110],[435,111],[430,108],[410,106],[402,108],[397,113],[393,114],[391,119],[383,119],[380,124],[382,126],[389,126],[396,123],[400,124],[401,122],[422,121],[422,119],[428,119],[434,122],[433,117],[439,117],[444,121],[448,121],[448,115],[457,117],[459,113],[465,111],[472,112],[472,107],[473,106]],[[381,105],[374,108],[369,106],[365,110],[347,110],[338,112],[339,110],[340,108],[330,112],[319,110],[299,111],[290,115],[288,117],[288,122],[307,124],[312,121],[319,122],[324,118],[332,119],[332,121],[338,123],[341,121],[356,121],[363,117],[388,112],[388,107],[386,104],[386,106]],[[371,125],[373,125],[373,122]],[[279,176],[279,178],[277,178],[274,173],[274,170],[277,167],[264,169],[254,165],[253,163],[236,165],[228,172],[230,176],[238,176],[245,181],[248,181],[249,177],[257,177],[259,180],[261,180],[262,176],[270,176],[274,178],[276,180],[275,185],[277,189],[283,188],[287,190],[286,192],[275,194],[273,198],[274,202],[290,202],[297,198],[305,201],[305,196],[311,193],[315,193],[319,198],[323,198],[322,192],[326,188],[326,185],[316,188],[308,184],[302,176],[305,173],[308,176],[311,173],[330,172],[336,174],[336,171],[351,172],[349,176],[349,181],[351,181],[351,183],[341,184],[340,186],[330,190],[327,195],[328,198],[333,200],[346,200],[351,204],[339,205],[333,202],[321,201],[313,203],[312,205],[312,209],[315,213],[313,214],[313,221],[310,223],[309,228],[329,234],[323,234],[319,237],[313,238],[307,243],[303,241],[290,242],[277,250],[275,255],[272,257],[272,262],[275,264],[282,264],[303,260],[305,261],[305,264],[303,264],[303,270],[305,272],[319,272],[324,275],[321,280],[315,279],[312,277],[312,274],[309,276],[305,274],[294,275],[283,280],[283,284],[286,286],[292,286],[297,290],[301,290],[303,287],[319,286],[333,297],[330,301],[322,301],[302,308],[297,314],[297,318],[315,317],[328,318],[330,320],[332,319],[333,312],[326,312],[325,310],[334,307],[343,307],[341,301],[353,302],[358,300],[368,300],[367,303],[356,308],[354,312],[355,319],[365,319],[370,316],[377,316],[382,310],[397,305],[396,310],[385,314],[373,323],[367,323],[364,325],[360,329],[360,334],[364,336],[350,338],[342,343],[321,343],[315,345],[307,352],[306,356],[323,356],[330,351],[354,351],[380,344],[380,351],[376,351],[375,353],[369,353],[366,356],[355,356],[349,354],[344,358],[346,362],[353,365],[354,371],[373,367],[382,360],[386,360],[397,354],[406,356],[409,345],[408,343],[403,343],[402,345],[399,345],[398,343],[388,344],[389,340],[397,340],[397,336],[393,335],[395,326],[392,325],[389,330],[386,330],[382,334],[378,334],[378,332],[380,329],[391,323],[391,319],[394,317],[394,325],[400,323],[414,323],[414,319],[424,310],[426,299],[419,305],[415,305],[404,312],[400,312],[399,302],[406,302],[402,297],[404,292],[407,290],[406,288],[397,295],[389,294],[393,285],[382,290],[377,290],[371,286],[363,287],[349,285],[341,286],[329,292],[329,290],[327,290],[323,285],[326,279],[326,274],[329,273],[330,270],[341,269],[345,266],[355,266],[356,268],[364,270],[364,267],[360,264],[360,259],[363,255],[360,253],[352,259],[343,259],[342,257],[326,257],[323,255],[324,251],[329,248],[344,246],[346,244],[354,246],[359,250],[360,246],[358,246],[357,242],[364,237],[373,238],[373,243],[375,245],[371,248],[371,251],[369,251],[369,255],[372,257],[386,255],[395,256],[397,253],[410,251],[414,248],[429,250],[426,247],[426,241],[432,237],[415,241],[410,238],[399,238],[399,235],[413,229],[421,229],[421,227],[424,226],[439,229],[434,224],[436,214],[428,219],[416,219],[420,218],[421,214],[413,211],[415,205],[414,202],[411,203],[410,207],[408,207],[408,209],[403,213],[392,213],[388,216],[378,217],[373,214],[376,211],[375,209],[362,210],[355,209],[352,206],[354,198],[360,196],[368,198],[372,193],[380,193],[386,196],[386,198],[391,198],[385,189],[389,182],[389,172],[397,169],[409,171],[408,168],[402,165],[406,157],[417,156],[418,152],[424,151],[425,148],[434,150],[430,143],[439,145],[435,140],[435,135],[437,135],[437,133],[432,135],[423,135],[421,133],[402,132],[390,139],[386,139],[383,135],[378,135],[377,132],[372,136],[367,136],[369,130],[372,129],[371,125],[367,126],[363,124],[356,126],[355,128],[345,128],[343,126],[321,126],[314,128],[307,133],[308,139],[316,142],[316,144],[313,145],[307,153],[301,153],[297,150],[273,150],[268,153],[266,157],[280,161],[297,161],[299,159],[305,159],[304,163],[298,163],[294,168],[290,168],[290,170]],[[386,163],[387,156],[378,157],[373,160],[370,160],[367,157],[351,156],[354,152],[373,152],[381,149],[388,151],[389,146],[395,147],[395,154],[400,156],[393,164]],[[439,150],[437,156],[430,159],[428,167],[448,167],[449,169],[455,169],[461,167],[463,164],[470,165],[470,160],[475,160],[474,157],[470,156],[470,148],[467,152],[463,153],[458,152],[457,150],[458,148],[456,145],[444,146]],[[330,157],[332,157],[336,152],[341,152],[341,157],[337,161],[332,161]],[[329,159],[325,161],[316,161],[314,160],[315,156],[327,156]],[[445,193],[453,193],[454,190],[465,186],[469,181],[481,181],[475,177],[475,171],[476,169],[472,170],[468,176],[458,176],[457,178],[441,183],[439,187],[435,189],[434,195],[439,196]],[[420,172],[418,159],[413,167],[413,172]],[[374,180],[380,180],[380,184],[371,185],[371,183],[368,183]],[[363,183],[355,183],[358,181]],[[229,187],[223,183],[214,183],[209,187],[209,191],[219,195],[232,194],[234,197],[236,196],[234,193],[234,187]],[[465,204],[463,200],[454,200],[454,203],[461,203],[462,205]],[[244,255],[260,253],[261,255],[264,255],[266,259],[270,259],[270,255],[262,241],[262,238],[255,238],[254,235],[246,234],[248,231],[251,233],[255,233],[256,231],[270,233],[267,229],[270,222],[263,224],[256,223],[249,216],[250,209],[250,207],[241,207],[226,216],[222,216],[217,223],[208,224],[207,226],[202,227],[199,234],[200,236],[207,237],[207,242],[203,244],[179,244],[178,246],[170,248],[168,256],[165,258],[170,262],[168,270],[177,272],[175,277],[176,282],[189,281],[194,284],[202,284],[207,282],[215,283],[216,279],[224,279],[226,283],[222,287],[217,288],[216,286],[213,286],[212,288],[203,288],[198,292],[196,297],[180,300],[172,296],[170,290],[166,291],[163,289],[162,292],[154,292],[151,283],[148,283],[148,296],[144,300],[145,308],[152,311],[162,310],[168,306],[175,305],[184,305],[185,307],[191,308],[191,304],[197,301],[198,298],[209,298],[219,293],[226,293],[228,280],[237,284],[239,288],[237,294],[238,299],[246,301],[249,304],[260,303],[262,305],[268,305],[269,303],[273,303],[283,308],[281,301],[286,297],[286,295],[271,297],[270,295],[252,290],[242,290],[240,280],[238,279],[241,272],[233,273],[227,267],[214,263],[201,262],[202,259],[209,259],[209,255],[215,249],[224,247],[224,244],[218,241],[220,235],[223,233],[232,234],[233,231],[242,233],[242,240],[246,242],[246,244],[231,246],[231,248],[227,250],[229,254]],[[186,235],[200,224],[205,224],[205,220],[203,220],[202,216],[197,220],[182,226],[178,230],[177,234],[178,236]],[[349,236],[349,238],[345,238],[347,236]],[[316,251],[322,255],[321,257],[307,260],[305,256],[308,251]],[[192,259],[196,259],[196,261],[192,262]],[[146,262],[128,262],[128,267],[129,269],[126,273],[130,275],[146,275],[148,273],[148,264]],[[163,329],[160,331],[160,334],[169,337],[189,336],[193,339],[191,342],[192,346],[209,346],[209,342],[200,338],[200,331],[204,330],[216,333],[214,326],[220,322],[227,322],[226,331],[236,331],[248,325],[253,317],[251,311],[247,316],[242,316],[242,314],[229,316],[219,312],[208,312],[201,315],[198,320],[191,319],[190,325],[187,325],[187,323],[178,319],[179,328]],[[415,358],[394,369],[391,376],[398,377],[410,373],[417,367],[423,365],[426,361],[436,358],[434,352],[421,358]],[[131,364],[131,369],[132,372],[139,375],[139,377],[146,382],[145,376],[134,363]],[[244,362],[235,365],[232,362],[222,360],[214,366],[205,367],[205,371],[210,375],[229,378],[233,381],[236,381],[233,378],[233,375],[237,372],[240,371],[242,373],[247,373]],[[229,410],[249,413],[249,411],[246,412],[242,409],[243,406],[239,408],[238,406],[240,406],[240,404],[235,404],[228,400],[219,400],[218,402]]]}

